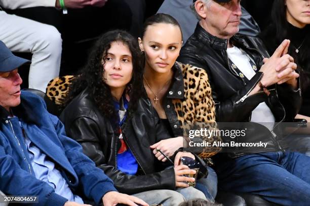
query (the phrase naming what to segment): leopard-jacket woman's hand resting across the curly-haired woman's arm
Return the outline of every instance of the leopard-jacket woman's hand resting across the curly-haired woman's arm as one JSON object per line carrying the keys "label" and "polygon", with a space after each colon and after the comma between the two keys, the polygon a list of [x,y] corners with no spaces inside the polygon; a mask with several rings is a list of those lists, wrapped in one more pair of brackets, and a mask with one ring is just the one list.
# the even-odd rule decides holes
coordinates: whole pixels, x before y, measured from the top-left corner
{"label": "leopard-jacket woman's hand resting across the curly-haired woman's arm", "polygon": [[156,149],[160,149],[168,158],[174,155],[174,152],[183,146],[183,137],[175,137],[161,140],[153,145],[150,145],[150,148],[153,149],[153,153],[155,157],[159,161],[166,162],[167,158],[165,158],[161,152]]}

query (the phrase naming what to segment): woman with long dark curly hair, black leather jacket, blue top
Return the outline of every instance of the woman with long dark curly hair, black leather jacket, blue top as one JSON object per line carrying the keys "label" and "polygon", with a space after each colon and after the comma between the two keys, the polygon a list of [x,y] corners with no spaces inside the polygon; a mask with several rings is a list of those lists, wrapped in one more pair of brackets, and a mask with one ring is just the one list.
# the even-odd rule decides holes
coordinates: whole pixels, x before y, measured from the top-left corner
{"label": "woman with long dark curly hair, black leather jacket, blue top", "polygon": [[99,39],[85,70],[70,85],[60,117],[66,133],[123,193],[163,205],[203,197],[192,187],[174,191],[178,181],[195,180],[182,175],[196,172],[184,165],[164,170],[149,148],[170,136],[154,119],[157,114],[143,92],[140,55],[138,41],[125,31]]}

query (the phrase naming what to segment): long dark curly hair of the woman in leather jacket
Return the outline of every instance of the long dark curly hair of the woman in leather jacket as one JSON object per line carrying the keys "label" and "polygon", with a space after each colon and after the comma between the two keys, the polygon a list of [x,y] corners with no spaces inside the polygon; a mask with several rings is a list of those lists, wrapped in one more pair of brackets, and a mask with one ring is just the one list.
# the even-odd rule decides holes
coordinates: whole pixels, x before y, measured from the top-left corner
{"label": "long dark curly hair of the woman in leather jacket", "polygon": [[132,55],[133,75],[126,86],[126,92],[129,94],[129,116],[135,111],[137,101],[142,95],[143,86],[143,67],[141,65],[141,52],[138,41],[131,34],[123,30],[112,30],[104,33],[95,43],[88,63],[79,75],[73,80],[69,87],[69,92],[64,100],[64,107],[86,87],[92,92],[95,104],[107,118],[116,120],[117,113],[113,106],[113,97],[110,87],[104,83],[102,60],[104,61],[111,43],[121,41],[129,47]]}

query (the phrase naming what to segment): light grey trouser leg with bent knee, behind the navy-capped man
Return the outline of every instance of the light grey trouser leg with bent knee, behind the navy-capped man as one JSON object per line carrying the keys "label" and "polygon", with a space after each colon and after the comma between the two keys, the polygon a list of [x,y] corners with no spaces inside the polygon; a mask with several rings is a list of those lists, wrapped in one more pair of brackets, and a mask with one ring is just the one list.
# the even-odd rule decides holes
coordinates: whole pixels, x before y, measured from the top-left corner
{"label": "light grey trouser leg with bent knee, behind the navy-capped man", "polygon": [[48,82],[59,76],[62,39],[54,26],[7,14],[0,9],[0,40],[12,52],[32,54],[29,85],[25,87],[45,92]]}

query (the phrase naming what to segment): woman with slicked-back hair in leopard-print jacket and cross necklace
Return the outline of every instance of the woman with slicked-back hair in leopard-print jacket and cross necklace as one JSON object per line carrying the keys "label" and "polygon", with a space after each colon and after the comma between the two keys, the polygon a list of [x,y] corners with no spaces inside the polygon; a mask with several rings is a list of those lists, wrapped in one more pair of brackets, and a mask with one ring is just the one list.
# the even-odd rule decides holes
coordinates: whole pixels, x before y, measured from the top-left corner
{"label": "woman with slicked-back hair in leopard-print jacket and cross necklace", "polygon": [[[160,149],[168,157],[177,151],[188,150],[191,139],[183,134],[183,129],[196,123],[215,124],[215,108],[211,96],[207,73],[200,68],[182,65],[176,62],[182,45],[182,32],[178,22],[167,14],[156,14],[149,17],[139,40],[142,53],[145,54],[144,88],[152,107],[159,115],[173,138],[164,139],[151,145],[154,156],[159,161],[167,159],[158,151]],[[217,136],[206,141],[212,142]],[[187,147],[187,148],[184,148]],[[192,159],[209,158],[219,148],[202,147],[198,155],[187,152]],[[175,166],[181,156],[176,156]],[[197,187],[203,191],[207,199],[214,201],[217,192],[217,177],[209,167],[207,178],[201,178]],[[182,188],[186,185],[178,184]]]}

